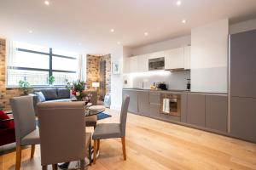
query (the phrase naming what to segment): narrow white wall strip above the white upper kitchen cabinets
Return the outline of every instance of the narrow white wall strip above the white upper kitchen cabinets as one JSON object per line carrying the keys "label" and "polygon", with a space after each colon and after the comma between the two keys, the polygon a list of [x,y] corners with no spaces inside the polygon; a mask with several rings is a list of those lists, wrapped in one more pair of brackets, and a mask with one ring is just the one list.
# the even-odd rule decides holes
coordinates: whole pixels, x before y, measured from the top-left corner
{"label": "narrow white wall strip above the white upper kitchen cabinets", "polygon": [[177,37],[170,40],[166,40],[163,42],[156,42],[152,44],[148,44],[143,47],[132,48],[133,55],[140,55],[140,54],[150,54],[158,51],[164,51],[166,49],[172,48],[180,48],[187,46],[191,43],[191,37],[184,36],[184,37]]}

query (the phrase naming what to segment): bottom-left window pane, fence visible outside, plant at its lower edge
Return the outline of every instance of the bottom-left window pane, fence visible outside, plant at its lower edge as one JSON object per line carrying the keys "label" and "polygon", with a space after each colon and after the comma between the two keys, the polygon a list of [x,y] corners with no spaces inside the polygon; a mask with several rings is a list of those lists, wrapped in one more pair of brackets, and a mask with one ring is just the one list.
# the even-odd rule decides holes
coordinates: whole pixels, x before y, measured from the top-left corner
{"label": "bottom-left window pane, fence visible outside, plant at its lower edge", "polygon": [[20,80],[26,80],[30,85],[48,85],[48,71],[22,71],[8,69],[8,85],[17,86]]}

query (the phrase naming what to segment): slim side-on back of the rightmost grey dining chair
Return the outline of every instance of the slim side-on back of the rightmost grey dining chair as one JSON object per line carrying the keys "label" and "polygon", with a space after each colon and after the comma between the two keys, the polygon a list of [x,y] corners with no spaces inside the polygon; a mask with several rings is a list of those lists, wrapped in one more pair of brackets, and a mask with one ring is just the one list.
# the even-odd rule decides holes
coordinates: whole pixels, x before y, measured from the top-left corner
{"label": "slim side-on back of the rightmost grey dining chair", "polygon": [[129,102],[130,102],[130,97],[125,96],[122,102],[122,108],[121,108],[121,114],[120,114],[121,136],[125,136],[126,118],[127,118]]}

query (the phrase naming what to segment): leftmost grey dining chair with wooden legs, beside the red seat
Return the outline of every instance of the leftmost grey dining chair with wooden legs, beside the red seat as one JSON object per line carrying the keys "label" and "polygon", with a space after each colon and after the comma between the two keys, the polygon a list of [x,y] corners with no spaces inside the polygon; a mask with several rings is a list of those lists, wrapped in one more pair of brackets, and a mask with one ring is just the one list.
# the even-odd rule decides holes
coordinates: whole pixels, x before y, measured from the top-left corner
{"label": "leftmost grey dining chair with wooden legs, beside the red seat", "polygon": [[16,165],[20,169],[21,146],[32,145],[31,158],[34,156],[35,144],[40,144],[32,96],[22,96],[10,99],[10,105],[15,119]]}

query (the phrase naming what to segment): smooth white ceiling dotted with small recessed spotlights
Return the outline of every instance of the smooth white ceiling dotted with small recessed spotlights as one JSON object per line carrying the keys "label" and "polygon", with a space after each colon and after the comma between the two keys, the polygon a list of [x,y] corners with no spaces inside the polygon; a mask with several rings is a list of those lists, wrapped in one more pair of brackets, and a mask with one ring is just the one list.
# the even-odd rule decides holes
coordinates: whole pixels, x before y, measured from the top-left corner
{"label": "smooth white ceiling dotted with small recessed spotlights", "polygon": [[214,20],[256,16],[256,0],[182,0],[179,7],[176,2],[49,0],[46,6],[44,0],[0,0],[0,37],[102,54],[117,42],[137,47],[189,34],[192,27]]}

